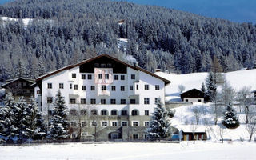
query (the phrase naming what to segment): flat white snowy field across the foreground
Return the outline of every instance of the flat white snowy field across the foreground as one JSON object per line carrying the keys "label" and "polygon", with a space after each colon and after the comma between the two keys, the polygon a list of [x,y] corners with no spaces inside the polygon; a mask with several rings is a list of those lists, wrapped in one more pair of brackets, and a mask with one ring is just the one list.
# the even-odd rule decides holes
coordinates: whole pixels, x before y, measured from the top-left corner
{"label": "flat white snowy field across the foreground", "polygon": [[41,146],[0,146],[4,160],[71,159],[255,159],[255,142],[182,142],[174,143],[103,143],[49,144]]}

